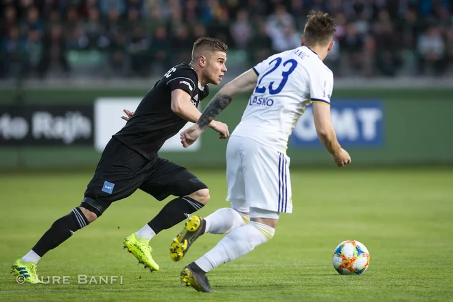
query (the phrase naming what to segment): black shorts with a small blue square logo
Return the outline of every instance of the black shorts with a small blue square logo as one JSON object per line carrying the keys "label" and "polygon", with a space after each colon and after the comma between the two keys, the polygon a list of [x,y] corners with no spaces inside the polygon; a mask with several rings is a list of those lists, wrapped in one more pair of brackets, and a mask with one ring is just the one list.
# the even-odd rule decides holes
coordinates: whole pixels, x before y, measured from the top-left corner
{"label": "black shorts with a small blue square logo", "polygon": [[137,189],[163,200],[170,195],[187,196],[206,188],[185,167],[159,156],[147,159],[112,137],[86,187],[82,206],[88,204],[90,210],[94,207],[100,216],[111,202],[126,198]]}

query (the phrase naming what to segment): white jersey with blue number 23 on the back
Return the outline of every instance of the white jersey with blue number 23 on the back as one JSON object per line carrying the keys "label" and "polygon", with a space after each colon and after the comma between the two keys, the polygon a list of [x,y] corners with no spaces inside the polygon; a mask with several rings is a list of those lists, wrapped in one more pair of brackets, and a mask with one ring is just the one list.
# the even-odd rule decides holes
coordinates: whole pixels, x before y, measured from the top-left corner
{"label": "white jersey with blue number 23 on the back", "polygon": [[305,107],[312,102],[330,104],[334,75],[306,46],[270,56],[253,70],[257,86],[231,135],[255,139],[286,153]]}

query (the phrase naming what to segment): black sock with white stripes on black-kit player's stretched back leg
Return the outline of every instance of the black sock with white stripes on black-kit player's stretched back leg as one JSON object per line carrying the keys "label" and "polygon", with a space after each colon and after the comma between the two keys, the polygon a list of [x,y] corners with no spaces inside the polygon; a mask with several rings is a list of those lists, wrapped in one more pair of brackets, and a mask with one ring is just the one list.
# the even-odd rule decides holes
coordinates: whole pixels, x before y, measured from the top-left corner
{"label": "black sock with white stripes on black-kit player's stretched back leg", "polygon": [[86,220],[82,210],[79,207],[75,207],[67,216],[56,220],[32,250],[40,257],[43,257],[45,253],[65,242],[75,231],[86,227],[88,224],[89,222]]}

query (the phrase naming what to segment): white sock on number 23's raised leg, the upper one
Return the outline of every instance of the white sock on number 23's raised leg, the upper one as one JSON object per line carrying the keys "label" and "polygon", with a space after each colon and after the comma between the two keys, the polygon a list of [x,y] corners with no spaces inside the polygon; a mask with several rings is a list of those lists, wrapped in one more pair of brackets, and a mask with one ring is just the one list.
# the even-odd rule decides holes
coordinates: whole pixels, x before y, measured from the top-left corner
{"label": "white sock on number 23's raised leg, the upper one", "polygon": [[235,209],[218,209],[205,218],[206,231],[211,234],[227,234],[238,227],[242,227],[250,221],[248,215]]}

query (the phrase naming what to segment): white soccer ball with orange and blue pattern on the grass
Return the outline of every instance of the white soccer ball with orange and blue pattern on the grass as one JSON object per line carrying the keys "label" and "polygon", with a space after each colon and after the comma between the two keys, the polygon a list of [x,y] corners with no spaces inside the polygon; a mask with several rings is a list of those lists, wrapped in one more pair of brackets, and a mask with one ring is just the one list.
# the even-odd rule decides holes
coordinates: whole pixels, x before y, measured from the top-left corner
{"label": "white soccer ball with orange and blue pattern on the grass", "polygon": [[340,275],[360,275],[370,264],[370,253],[360,242],[346,240],[335,248],[332,263]]}

